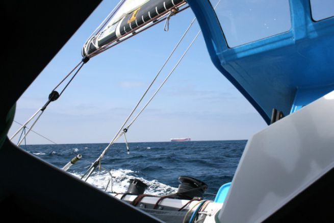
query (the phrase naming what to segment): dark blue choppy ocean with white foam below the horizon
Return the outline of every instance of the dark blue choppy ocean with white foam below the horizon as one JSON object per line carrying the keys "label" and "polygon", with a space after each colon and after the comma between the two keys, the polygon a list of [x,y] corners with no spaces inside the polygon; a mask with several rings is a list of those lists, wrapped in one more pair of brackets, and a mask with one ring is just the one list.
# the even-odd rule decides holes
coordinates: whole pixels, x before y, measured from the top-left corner
{"label": "dark blue choppy ocean with white foam below the horizon", "polygon": [[[128,181],[138,178],[148,185],[145,193],[166,195],[176,192],[179,176],[190,176],[208,184],[205,199],[214,200],[221,185],[232,181],[246,140],[115,143],[101,161],[101,168],[87,181],[108,192],[123,193]],[[75,155],[83,157],[68,170],[76,177],[84,174],[107,146],[100,144],[27,145],[35,156],[63,167]],[[22,146],[25,149],[24,145]],[[110,174],[108,173],[110,171]]]}

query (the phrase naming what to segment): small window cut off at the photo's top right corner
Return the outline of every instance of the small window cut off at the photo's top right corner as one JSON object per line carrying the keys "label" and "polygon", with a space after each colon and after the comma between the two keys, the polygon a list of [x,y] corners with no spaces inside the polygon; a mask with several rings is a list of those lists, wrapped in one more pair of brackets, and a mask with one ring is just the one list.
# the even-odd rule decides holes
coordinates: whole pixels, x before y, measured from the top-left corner
{"label": "small window cut off at the photo's top right corner", "polygon": [[334,16],[333,0],[310,0],[312,18],[319,21]]}

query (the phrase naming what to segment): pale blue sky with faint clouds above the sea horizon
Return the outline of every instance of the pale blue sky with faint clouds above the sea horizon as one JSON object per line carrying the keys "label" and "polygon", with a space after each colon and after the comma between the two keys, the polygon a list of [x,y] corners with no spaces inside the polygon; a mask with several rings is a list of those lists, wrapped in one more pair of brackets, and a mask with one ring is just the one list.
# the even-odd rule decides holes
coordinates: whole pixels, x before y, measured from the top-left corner
{"label": "pale blue sky with faint clouds above the sea horizon", "polygon": [[[84,42],[117,2],[103,1],[49,62],[19,98],[15,121],[25,122],[45,104],[50,91],[81,60]],[[164,31],[162,22],[92,58],[63,95],[48,106],[34,131],[58,144],[110,142],[193,17],[191,9],[187,9],[171,18],[168,32]],[[198,30],[195,22],[144,103]],[[126,138],[130,142],[169,141],[181,137],[249,139],[266,126],[250,103],[215,68],[200,35],[161,91],[134,122]],[[9,136],[19,127],[13,123]],[[17,140],[16,137],[13,141]],[[123,138],[118,142],[123,142]],[[50,142],[30,133],[27,143]]]}

